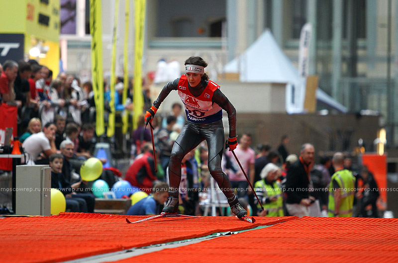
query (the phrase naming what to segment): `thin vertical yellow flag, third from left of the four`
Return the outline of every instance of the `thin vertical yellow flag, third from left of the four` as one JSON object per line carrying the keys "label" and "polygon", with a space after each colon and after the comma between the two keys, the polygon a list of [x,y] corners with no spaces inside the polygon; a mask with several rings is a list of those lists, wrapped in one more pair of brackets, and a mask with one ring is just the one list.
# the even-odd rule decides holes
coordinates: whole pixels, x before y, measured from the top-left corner
{"label": "thin vertical yellow flag, third from left of the four", "polygon": [[[129,13],[129,0],[125,0],[126,1],[126,6],[125,6],[125,25],[124,25],[124,50],[123,50],[123,71],[124,71],[124,75],[123,75],[123,98],[122,98],[122,103],[124,105],[124,103],[126,102],[127,99],[127,89],[128,89],[128,25],[129,25],[129,19],[130,19],[130,13]],[[125,110],[121,120],[122,120],[122,128],[121,131],[123,134],[125,134],[127,132],[128,129],[128,117],[129,117],[129,111]]]}

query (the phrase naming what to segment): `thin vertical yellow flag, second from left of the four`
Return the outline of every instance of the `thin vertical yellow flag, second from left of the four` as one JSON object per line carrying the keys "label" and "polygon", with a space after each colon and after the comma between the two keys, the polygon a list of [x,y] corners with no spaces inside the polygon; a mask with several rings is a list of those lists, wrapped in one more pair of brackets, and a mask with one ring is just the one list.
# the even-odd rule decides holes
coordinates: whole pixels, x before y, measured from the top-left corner
{"label": "thin vertical yellow flag, second from left of the four", "polygon": [[115,0],[115,17],[113,23],[113,36],[112,36],[112,59],[110,65],[110,101],[109,101],[109,118],[108,118],[108,130],[106,135],[108,137],[115,134],[115,64],[116,64],[116,29],[117,29],[117,18],[119,12],[119,0]]}

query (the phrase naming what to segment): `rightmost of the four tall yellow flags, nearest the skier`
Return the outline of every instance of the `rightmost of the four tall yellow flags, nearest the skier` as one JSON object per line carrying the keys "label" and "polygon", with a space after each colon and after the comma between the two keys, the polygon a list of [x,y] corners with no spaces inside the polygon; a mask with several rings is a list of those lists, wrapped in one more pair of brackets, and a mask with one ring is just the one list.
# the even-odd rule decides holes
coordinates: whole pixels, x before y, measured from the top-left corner
{"label": "rightmost of the four tall yellow flags, nearest the skier", "polygon": [[142,53],[144,49],[144,24],[146,0],[135,0],[135,51],[134,51],[134,115],[133,129],[137,128],[138,117],[143,113]]}

